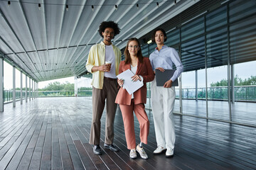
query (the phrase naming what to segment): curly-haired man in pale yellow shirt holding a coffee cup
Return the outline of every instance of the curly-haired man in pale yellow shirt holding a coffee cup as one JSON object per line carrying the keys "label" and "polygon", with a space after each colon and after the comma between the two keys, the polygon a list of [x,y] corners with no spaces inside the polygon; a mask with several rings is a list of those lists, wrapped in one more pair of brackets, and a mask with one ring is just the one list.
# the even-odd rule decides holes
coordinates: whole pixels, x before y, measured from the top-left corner
{"label": "curly-haired man in pale yellow shirt holding a coffee cup", "polygon": [[107,98],[107,113],[105,123],[106,149],[118,151],[113,145],[114,140],[114,116],[117,104],[114,100],[117,96],[117,74],[121,61],[121,51],[112,45],[114,35],[119,34],[120,29],[114,21],[103,21],[98,32],[103,41],[90,48],[86,69],[92,73],[92,125],[90,131],[90,144],[95,154],[102,154],[100,149],[100,119]]}

